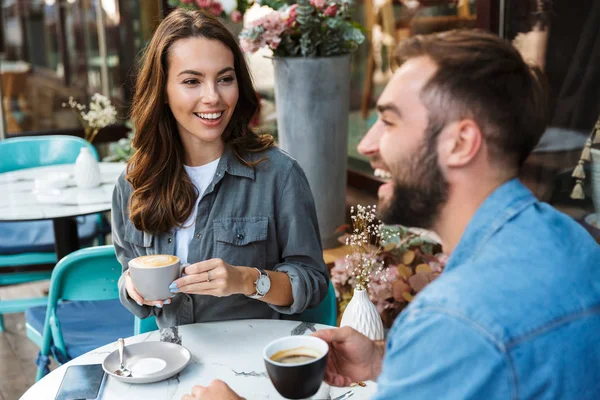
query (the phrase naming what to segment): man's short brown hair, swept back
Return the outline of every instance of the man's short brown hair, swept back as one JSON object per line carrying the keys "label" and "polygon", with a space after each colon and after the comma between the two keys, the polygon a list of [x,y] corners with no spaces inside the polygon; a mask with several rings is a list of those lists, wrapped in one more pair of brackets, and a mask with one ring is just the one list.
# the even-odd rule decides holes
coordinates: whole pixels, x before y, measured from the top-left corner
{"label": "man's short brown hair, swept back", "polygon": [[482,130],[490,157],[519,169],[546,129],[542,71],[528,65],[507,41],[479,30],[414,36],[396,50],[398,65],[419,56],[438,66],[421,92],[430,126],[471,118]]}

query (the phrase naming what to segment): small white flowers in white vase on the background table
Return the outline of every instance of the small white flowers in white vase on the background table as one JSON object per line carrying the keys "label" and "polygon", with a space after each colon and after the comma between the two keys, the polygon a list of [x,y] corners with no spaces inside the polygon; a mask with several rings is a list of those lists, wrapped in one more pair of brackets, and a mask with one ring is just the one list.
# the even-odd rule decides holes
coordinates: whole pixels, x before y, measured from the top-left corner
{"label": "small white flowers in white vase on the background table", "polygon": [[68,103],[62,103],[63,107],[70,107],[79,122],[85,130],[83,138],[92,143],[100,129],[117,122],[117,110],[111,104],[110,100],[99,93],[92,96],[89,105],[89,111],[84,111],[86,106],[76,102],[73,97],[69,97]]}

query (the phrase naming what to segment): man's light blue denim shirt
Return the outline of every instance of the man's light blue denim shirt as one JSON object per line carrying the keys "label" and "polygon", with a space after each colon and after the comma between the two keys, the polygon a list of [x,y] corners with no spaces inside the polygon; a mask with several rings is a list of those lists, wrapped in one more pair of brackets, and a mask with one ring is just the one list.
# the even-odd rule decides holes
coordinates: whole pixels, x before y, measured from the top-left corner
{"label": "man's light blue denim shirt", "polygon": [[600,399],[600,247],[506,182],[394,322],[376,399]]}

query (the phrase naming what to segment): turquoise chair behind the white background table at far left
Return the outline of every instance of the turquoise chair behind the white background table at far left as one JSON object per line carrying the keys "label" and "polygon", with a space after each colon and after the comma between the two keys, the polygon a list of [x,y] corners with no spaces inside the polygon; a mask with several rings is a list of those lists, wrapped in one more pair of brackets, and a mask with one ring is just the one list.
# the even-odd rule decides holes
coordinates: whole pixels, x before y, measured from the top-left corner
{"label": "turquoise chair behind the white background table at far left", "polygon": [[[98,159],[94,146],[86,140],[75,136],[49,135],[10,138],[0,141],[0,173],[25,168],[41,167],[57,164],[74,163],[82,147],[90,149]],[[94,234],[108,225],[100,215],[96,219],[87,219],[85,230]],[[98,229],[100,227],[100,229]],[[51,221],[0,222],[0,231],[11,236],[14,232],[28,232],[30,236],[43,236],[42,232],[53,235]],[[13,232],[13,233],[8,233]],[[36,232],[36,234],[33,234]],[[103,232],[107,233],[107,232]],[[103,243],[104,235],[98,240]],[[3,268],[18,268],[26,265],[55,264],[56,254],[52,242],[43,246],[28,243],[16,244],[11,237],[2,237],[0,243],[0,286],[24,282],[33,282],[50,278],[50,271],[27,271],[1,273]],[[15,247],[16,246],[16,247]],[[46,297],[2,300],[0,301],[0,332],[4,331],[3,314],[22,312],[29,307],[46,304]]]}

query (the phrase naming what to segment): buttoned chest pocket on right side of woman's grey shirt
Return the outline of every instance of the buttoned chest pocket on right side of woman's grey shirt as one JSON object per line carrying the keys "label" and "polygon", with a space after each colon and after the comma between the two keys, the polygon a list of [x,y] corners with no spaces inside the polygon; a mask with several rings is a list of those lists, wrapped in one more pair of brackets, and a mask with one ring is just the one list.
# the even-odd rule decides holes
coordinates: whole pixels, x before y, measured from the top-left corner
{"label": "buttoned chest pocket on right side of woman's grey shirt", "polygon": [[215,257],[235,266],[265,268],[268,217],[215,219]]}

